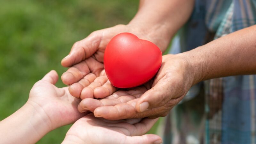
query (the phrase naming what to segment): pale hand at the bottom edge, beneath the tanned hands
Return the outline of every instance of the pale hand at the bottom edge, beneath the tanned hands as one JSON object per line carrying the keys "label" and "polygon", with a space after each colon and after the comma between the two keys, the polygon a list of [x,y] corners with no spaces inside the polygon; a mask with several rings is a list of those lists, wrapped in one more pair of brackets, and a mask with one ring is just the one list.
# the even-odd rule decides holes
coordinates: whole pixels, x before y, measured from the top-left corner
{"label": "pale hand at the bottom edge, beneath the tanned hands", "polygon": [[[162,140],[154,134],[145,134],[157,119],[145,118],[109,121],[93,114],[76,121],[68,130],[63,144],[133,143],[160,144]],[[142,135],[142,136],[141,136]]]}

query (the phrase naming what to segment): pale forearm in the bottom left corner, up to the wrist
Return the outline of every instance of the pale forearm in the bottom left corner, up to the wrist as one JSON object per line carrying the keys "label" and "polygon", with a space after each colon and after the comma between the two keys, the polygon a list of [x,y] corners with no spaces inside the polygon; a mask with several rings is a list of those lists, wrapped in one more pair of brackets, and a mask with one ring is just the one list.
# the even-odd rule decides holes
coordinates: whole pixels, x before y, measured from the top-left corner
{"label": "pale forearm in the bottom left corner, up to the wrist", "polygon": [[41,112],[25,104],[11,116],[0,122],[0,143],[36,143],[51,126],[46,124]]}

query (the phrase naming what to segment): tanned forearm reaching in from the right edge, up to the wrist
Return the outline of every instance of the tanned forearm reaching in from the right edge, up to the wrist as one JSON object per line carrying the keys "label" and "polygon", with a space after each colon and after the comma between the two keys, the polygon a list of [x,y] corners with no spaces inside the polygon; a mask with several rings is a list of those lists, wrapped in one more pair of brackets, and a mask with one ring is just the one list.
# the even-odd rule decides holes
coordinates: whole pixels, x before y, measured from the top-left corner
{"label": "tanned forearm reaching in from the right edge, up to the wrist", "polygon": [[217,77],[256,74],[256,25],[182,53],[191,63],[194,83]]}

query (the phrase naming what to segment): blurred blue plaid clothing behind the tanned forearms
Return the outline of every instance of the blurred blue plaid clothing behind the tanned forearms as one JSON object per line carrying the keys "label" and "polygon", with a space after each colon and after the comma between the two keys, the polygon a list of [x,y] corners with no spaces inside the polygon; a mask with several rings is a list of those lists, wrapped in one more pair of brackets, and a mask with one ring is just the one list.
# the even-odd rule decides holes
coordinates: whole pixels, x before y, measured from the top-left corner
{"label": "blurred blue plaid clothing behind the tanned forearms", "polygon": [[[255,23],[256,0],[196,0],[170,53],[191,50]],[[255,75],[199,83],[164,118],[158,132],[166,144],[256,144],[255,98]]]}

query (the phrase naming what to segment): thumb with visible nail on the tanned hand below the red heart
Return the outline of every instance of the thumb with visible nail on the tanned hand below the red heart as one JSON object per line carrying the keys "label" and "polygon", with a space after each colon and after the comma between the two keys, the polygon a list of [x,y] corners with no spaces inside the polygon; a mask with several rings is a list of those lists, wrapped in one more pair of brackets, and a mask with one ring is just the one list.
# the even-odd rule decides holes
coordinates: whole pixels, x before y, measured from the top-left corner
{"label": "thumb with visible nail on the tanned hand below the red heart", "polygon": [[144,112],[148,108],[156,108],[162,106],[171,95],[171,86],[166,80],[159,80],[154,87],[142,94],[136,103],[136,110]]}

